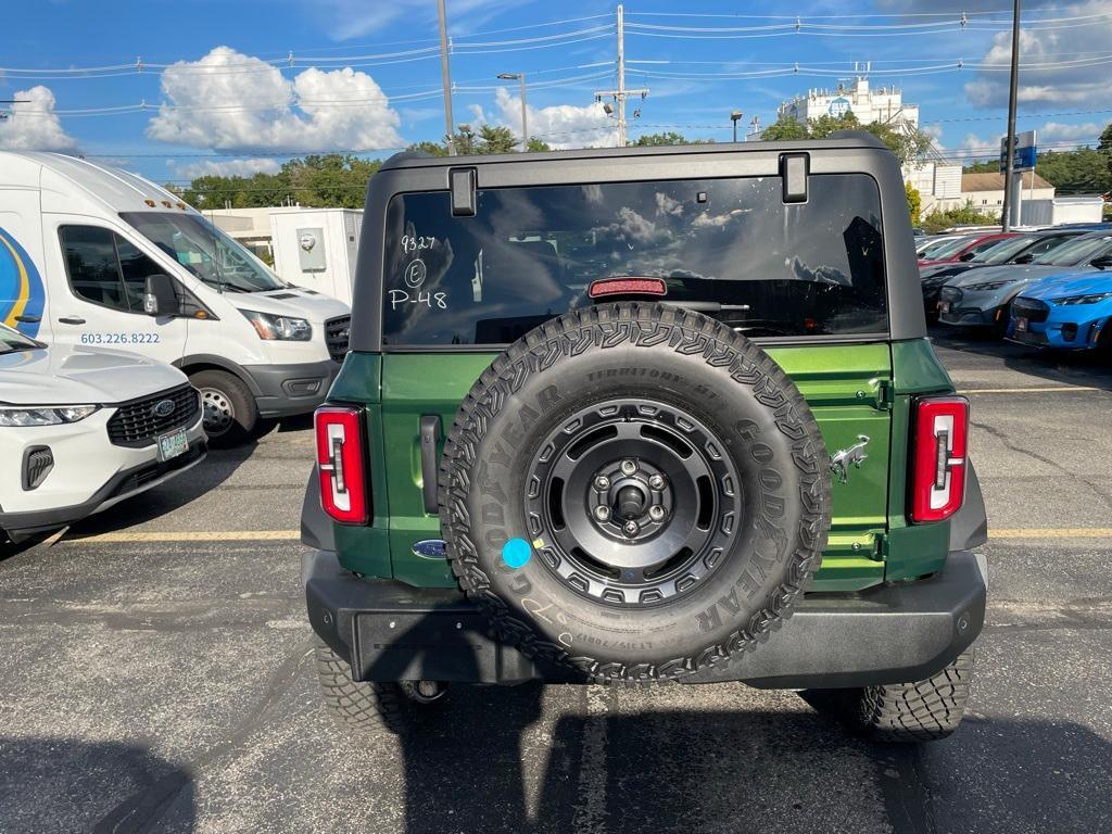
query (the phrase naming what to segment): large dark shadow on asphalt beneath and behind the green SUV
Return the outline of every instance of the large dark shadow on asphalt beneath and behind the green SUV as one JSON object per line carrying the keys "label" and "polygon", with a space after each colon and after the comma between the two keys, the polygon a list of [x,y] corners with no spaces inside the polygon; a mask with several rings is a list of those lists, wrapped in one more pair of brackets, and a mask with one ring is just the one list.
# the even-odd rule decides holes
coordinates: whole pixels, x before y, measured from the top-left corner
{"label": "large dark shadow on asphalt beneath and behind the green SUV", "polygon": [[404,746],[407,834],[1112,830],[1112,745],[1069,722],[970,721],[916,747],[810,712],[664,711],[563,717],[523,749],[536,688],[451,695]]}

